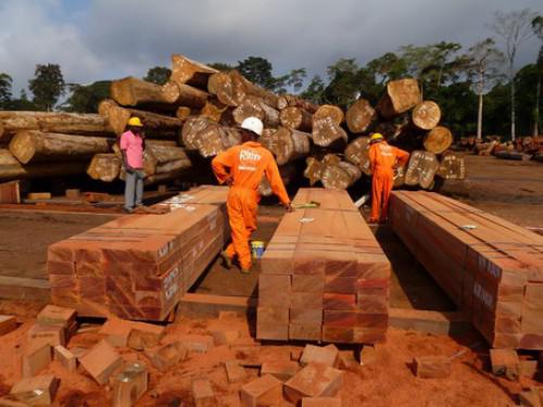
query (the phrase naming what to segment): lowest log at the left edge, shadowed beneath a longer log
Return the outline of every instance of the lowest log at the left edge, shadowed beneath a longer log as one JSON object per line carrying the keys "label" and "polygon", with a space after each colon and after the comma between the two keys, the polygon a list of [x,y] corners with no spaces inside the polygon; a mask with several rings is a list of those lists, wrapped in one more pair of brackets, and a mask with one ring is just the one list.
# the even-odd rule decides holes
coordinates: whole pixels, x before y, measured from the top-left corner
{"label": "lowest log at the left edge, shadowed beneath a longer log", "polygon": [[0,149],[0,179],[43,178],[85,174],[86,161],[22,165],[7,149]]}

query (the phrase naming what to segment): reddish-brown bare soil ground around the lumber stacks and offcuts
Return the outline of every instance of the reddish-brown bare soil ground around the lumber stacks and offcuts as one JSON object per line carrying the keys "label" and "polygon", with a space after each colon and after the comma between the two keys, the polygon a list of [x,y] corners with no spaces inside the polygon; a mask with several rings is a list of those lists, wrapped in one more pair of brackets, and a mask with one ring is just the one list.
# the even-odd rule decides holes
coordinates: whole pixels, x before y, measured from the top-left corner
{"label": "reddish-brown bare soil ground around the lumber stacks and offcuts", "polygon": [[[508,220],[528,227],[543,228],[543,165],[500,161],[494,157],[467,156],[468,179],[464,182],[445,182],[442,193],[463,200],[476,207],[489,211]],[[255,240],[268,241],[277,227],[282,209],[262,206],[260,229]],[[101,225],[112,215],[106,214],[51,214],[0,211],[0,275],[43,278],[47,245],[58,240]],[[435,285],[433,280],[405,250],[402,242],[382,227],[376,231],[393,267],[391,305],[417,309],[454,309],[452,302]],[[225,270],[215,262],[200,281],[197,291],[222,295],[255,294],[258,266],[251,276],[242,276],[236,269]],[[0,338],[0,396],[21,378],[21,355],[26,334],[34,316],[41,307],[36,303],[0,301],[0,315],[17,315],[22,326]],[[226,322],[226,327],[249,335],[252,322],[243,318]],[[209,334],[225,321],[216,319],[181,318],[167,327],[167,341],[179,333]],[[75,335],[68,347],[89,347],[101,338],[97,333]],[[249,339],[248,339],[249,340]],[[344,386],[340,393],[343,406],[513,406],[517,394],[540,382],[521,379],[509,382],[489,372],[489,349],[481,338],[469,332],[463,336],[428,335],[413,331],[390,329],[387,341],[377,346],[378,361],[374,366],[345,370]],[[247,341],[245,341],[247,342]],[[274,359],[285,357],[290,349],[301,344],[262,344],[255,346],[257,354]],[[452,376],[440,380],[421,380],[413,373],[416,356],[452,356],[459,351],[466,353],[456,358]],[[137,406],[191,406],[191,381],[205,377],[212,381],[220,402],[217,405],[238,406],[237,392],[243,383],[227,382],[223,363],[243,358],[247,346],[217,346],[206,354],[192,354],[166,373],[155,370],[141,352],[121,349],[126,360],[140,359],[150,370],[150,392]],[[248,369],[247,381],[257,376],[256,369]],[[61,379],[56,397],[58,406],[106,406],[111,405],[112,392],[101,387],[79,370],[67,374],[53,363],[47,372]],[[286,400],[279,406],[291,406]]]}

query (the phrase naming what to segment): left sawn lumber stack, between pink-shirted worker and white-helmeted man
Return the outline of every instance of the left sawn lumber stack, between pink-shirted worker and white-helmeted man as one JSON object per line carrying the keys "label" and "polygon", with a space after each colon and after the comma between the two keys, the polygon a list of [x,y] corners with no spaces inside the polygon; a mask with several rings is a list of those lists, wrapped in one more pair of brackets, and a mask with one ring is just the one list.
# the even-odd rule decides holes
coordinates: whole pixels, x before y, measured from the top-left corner
{"label": "left sawn lumber stack, between pink-shirted worker and white-helmeted man", "polygon": [[164,320],[228,237],[228,189],[200,187],[49,246],[54,304],[81,316]]}

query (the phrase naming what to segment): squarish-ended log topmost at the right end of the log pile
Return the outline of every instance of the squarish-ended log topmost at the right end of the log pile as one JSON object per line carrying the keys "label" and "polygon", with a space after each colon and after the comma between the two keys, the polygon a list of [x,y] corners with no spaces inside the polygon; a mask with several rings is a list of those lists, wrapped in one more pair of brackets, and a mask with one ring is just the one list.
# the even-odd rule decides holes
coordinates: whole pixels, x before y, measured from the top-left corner
{"label": "squarish-ended log topmost at the right end of the log pile", "polygon": [[393,118],[422,102],[417,79],[391,80],[387,84],[384,94],[377,104],[379,115],[386,119]]}

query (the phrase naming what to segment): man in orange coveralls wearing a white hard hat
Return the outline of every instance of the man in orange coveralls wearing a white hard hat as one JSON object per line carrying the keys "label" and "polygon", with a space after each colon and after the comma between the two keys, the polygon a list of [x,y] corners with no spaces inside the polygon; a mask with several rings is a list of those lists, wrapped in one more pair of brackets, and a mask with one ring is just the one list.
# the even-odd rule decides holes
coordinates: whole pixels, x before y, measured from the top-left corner
{"label": "man in orange coveralls wearing a white hard hat", "polygon": [[262,136],[263,128],[258,118],[245,118],[241,124],[243,143],[228,149],[212,161],[218,181],[230,187],[226,204],[232,242],[220,255],[227,268],[231,267],[237,255],[242,274],[251,271],[249,240],[256,230],[256,209],[261,200],[258,186],[264,175],[281,203],[292,211],[274,156],[255,141],[257,136]]}

